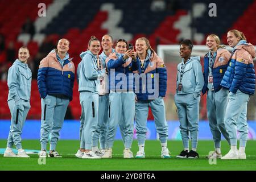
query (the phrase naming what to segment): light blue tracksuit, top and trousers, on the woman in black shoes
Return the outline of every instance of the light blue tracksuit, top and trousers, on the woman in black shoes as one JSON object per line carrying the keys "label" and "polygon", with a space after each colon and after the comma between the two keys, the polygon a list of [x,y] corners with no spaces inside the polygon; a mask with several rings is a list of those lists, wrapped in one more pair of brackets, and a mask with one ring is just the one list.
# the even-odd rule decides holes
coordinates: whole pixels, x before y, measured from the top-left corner
{"label": "light blue tracksuit, top and trousers, on the woman in black shoes", "polygon": [[[182,88],[179,91],[178,86],[180,82]],[[197,148],[200,93],[204,86],[204,77],[199,56],[190,57],[185,64],[183,59],[177,65],[176,86],[174,100],[180,121],[183,146],[184,148],[189,147],[188,132],[190,132],[192,148]]]}

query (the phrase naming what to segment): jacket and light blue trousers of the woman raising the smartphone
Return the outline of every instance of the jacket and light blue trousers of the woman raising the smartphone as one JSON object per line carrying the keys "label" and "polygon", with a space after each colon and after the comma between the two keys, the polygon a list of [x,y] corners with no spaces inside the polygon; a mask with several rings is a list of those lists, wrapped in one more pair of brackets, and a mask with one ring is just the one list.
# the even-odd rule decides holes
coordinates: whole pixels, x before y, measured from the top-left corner
{"label": "jacket and light blue trousers of the woman raising the smartphone", "polygon": [[[133,71],[137,70],[138,67],[133,65],[137,64],[136,61],[134,63],[130,59],[123,60],[123,54],[121,53],[115,52],[113,55],[115,55],[115,59],[111,58],[107,61],[111,91],[109,93],[109,121],[106,133],[106,147],[113,147],[114,137],[119,123],[123,144],[125,148],[131,148],[135,114]],[[132,69],[132,65],[134,70]],[[115,88],[115,85],[119,83],[117,75],[126,77],[127,79],[127,83],[122,85],[121,90]]]}

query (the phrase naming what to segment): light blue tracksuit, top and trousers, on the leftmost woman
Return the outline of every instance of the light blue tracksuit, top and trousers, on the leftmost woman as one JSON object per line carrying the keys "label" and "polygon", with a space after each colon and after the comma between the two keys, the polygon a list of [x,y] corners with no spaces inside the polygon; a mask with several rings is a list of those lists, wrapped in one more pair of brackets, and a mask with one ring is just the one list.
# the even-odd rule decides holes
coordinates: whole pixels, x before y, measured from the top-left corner
{"label": "light blue tracksuit, top and trousers, on the leftmost woman", "polygon": [[27,113],[30,110],[32,73],[26,63],[16,59],[8,71],[8,106],[11,111],[11,127],[7,147],[22,148],[21,134]]}

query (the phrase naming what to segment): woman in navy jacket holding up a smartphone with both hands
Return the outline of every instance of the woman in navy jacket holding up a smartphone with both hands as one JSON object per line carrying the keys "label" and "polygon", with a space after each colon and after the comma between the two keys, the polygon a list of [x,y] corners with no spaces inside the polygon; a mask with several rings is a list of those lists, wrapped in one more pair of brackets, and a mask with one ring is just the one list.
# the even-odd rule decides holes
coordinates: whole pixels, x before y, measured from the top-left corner
{"label": "woman in navy jacket holding up a smartphone with both hands", "polygon": [[119,39],[115,44],[115,52],[106,59],[109,72],[109,122],[106,133],[106,150],[102,158],[112,158],[117,125],[119,123],[125,150],[123,158],[133,158],[131,144],[133,142],[133,125],[135,110],[135,94],[133,72],[138,64],[133,49],[127,50],[127,42]]}

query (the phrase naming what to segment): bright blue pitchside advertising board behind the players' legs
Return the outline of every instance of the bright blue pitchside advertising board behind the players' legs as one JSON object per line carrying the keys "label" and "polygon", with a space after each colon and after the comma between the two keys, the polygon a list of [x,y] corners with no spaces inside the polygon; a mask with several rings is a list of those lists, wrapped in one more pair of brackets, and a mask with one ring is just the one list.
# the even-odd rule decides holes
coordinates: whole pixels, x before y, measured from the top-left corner
{"label": "bright blue pitchside advertising board behind the players' legs", "polygon": [[[0,120],[0,139],[7,139],[10,130],[10,120]],[[22,139],[40,139],[40,125],[39,120],[27,120],[23,127]],[[179,129],[179,121],[168,121],[168,139],[181,140],[181,134]],[[63,128],[60,131],[60,139],[79,139],[80,122],[78,120],[65,120]],[[256,121],[248,121],[249,134],[248,139],[256,140]],[[239,133],[237,132],[239,137]],[[122,139],[121,133],[118,127],[115,139]],[[134,125],[134,139],[136,139],[136,130]],[[158,133],[156,133],[155,122],[147,122],[147,134],[146,139],[155,140],[158,139]],[[212,133],[210,132],[208,121],[199,121],[199,139],[211,140]],[[224,139],[222,137],[222,139]]]}

